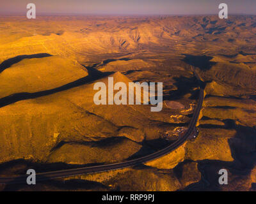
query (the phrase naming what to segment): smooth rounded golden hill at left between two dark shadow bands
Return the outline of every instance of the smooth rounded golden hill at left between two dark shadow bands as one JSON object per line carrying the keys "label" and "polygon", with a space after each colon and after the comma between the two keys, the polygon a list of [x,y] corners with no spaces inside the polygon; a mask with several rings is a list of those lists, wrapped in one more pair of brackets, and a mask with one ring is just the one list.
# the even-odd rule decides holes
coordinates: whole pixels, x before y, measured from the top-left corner
{"label": "smooth rounded golden hill at left between two dark shadow bands", "polygon": [[88,75],[80,64],[59,56],[23,59],[0,73],[0,98],[38,92],[74,82]]}

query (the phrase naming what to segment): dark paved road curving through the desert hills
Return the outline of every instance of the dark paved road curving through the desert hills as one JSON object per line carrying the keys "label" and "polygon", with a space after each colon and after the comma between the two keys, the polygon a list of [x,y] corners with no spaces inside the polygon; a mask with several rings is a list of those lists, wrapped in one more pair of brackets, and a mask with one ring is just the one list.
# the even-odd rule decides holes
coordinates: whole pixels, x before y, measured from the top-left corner
{"label": "dark paved road curving through the desert hills", "polygon": [[[195,69],[192,67],[195,77],[200,80],[200,77],[198,77]],[[200,81],[201,82],[201,81]],[[201,84],[201,83],[200,83]],[[49,179],[56,179],[61,177],[70,177],[74,175],[82,175],[86,173],[96,173],[96,172],[102,172],[102,171],[109,171],[109,170],[117,170],[121,168],[127,168],[129,166],[135,166],[141,163],[146,163],[148,161],[152,161],[153,159],[157,159],[159,157],[162,157],[173,150],[177,149],[182,145],[186,140],[191,138],[191,134],[193,134],[193,130],[195,129],[196,122],[198,120],[198,116],[200,113],[200,110],[202,108],[202,103],[204,101],[204,87],[200,86],[200,95],[198,100],[198,105],[196,106],[195,112],[193,113],[193,117],[191,118],[191,121],[189,123],[189,128],[187,129],[186,133],[182,138],[177,140],[176,142],[172,143],[171,145],[168,145],[168,147],[165,147],[164,149],[161,149],[157,152],[154,152],[153,154],[149,154],[148,156],[140,157],[138,159],[132,159],[130,161],[124,161],[121,163],[115,163],[115,164],[104,164],[100,166],[89,166],[84,168],[75,168],[70,170],[60,170],[60,171],[49,171],[45,173],[37,173],[36,174],[36,182],[42,181],[42,180],[49,180]],[[20,184],[20,183],[26,183],[26,178],[28,175],[20,175],[17,177],[0,177],[0,184]]]}

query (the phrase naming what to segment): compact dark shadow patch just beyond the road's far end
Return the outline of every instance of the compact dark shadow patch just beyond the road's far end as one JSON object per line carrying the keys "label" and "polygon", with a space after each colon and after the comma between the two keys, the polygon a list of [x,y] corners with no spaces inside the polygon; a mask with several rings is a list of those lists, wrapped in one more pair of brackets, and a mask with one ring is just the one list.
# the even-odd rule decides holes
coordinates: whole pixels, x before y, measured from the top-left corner
{"label": "compact dark shadow patch just beyond the road's far end", "polygon": [[216,64],[216,62],[211,62],[210,60],[213,58],[207,55],[188,55],[182,54],[185,56],[182,61],[190,64],[191,66],[195,66],[200,68],[201,70],[209,70],[211,67]]}

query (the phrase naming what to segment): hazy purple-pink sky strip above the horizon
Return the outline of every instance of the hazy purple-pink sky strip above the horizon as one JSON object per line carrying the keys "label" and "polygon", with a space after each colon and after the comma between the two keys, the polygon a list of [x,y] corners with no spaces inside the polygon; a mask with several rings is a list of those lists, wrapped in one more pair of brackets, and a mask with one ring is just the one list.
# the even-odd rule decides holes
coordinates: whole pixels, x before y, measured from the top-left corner
{"label": "hazy purple-pink sky strip above the horizon", "polygon": [[256,0],[1,0],[0,14],[26,13],[28,3],[37,13],[89,15],[218,15],[218,4],[227,3],[228,13],[256,15]]}

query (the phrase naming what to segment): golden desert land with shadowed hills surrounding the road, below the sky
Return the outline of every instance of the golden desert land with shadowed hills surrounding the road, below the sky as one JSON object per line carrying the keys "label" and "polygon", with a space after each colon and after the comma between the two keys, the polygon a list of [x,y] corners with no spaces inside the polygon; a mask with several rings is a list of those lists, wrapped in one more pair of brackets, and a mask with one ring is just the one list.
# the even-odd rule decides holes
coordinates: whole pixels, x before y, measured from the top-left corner
{"label": "golden desert land with shadowed hills surrounding the road, below the sky", "polygon": [[[256,17],[0,17],[0,176],[147,163],[1,191],[255,191]],[[93,85],[163,82],[163,110],[95,105]],[[220,186],[218,171],[228,170]]]}

